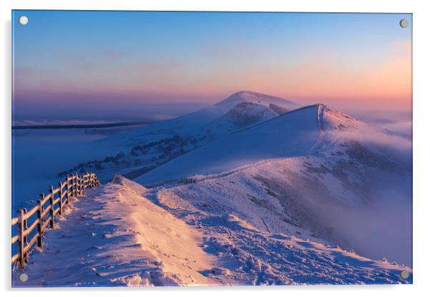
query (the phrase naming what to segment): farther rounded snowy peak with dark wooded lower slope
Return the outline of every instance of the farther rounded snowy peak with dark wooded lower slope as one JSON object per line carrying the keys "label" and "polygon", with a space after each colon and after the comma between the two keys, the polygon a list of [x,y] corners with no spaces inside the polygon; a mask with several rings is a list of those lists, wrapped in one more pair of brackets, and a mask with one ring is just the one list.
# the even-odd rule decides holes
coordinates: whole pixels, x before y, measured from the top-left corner
{"label": "farther rounded snowy peak with dark wooded lower slope", "polygon": [[135,178],[187,151],[244,129],[299,105],[286,99],[241,91],[218,104],[175,119],[160,121],[91,145],[99,158],[82,160],[67,171],[96,171],[102,180],[121,173]]}

